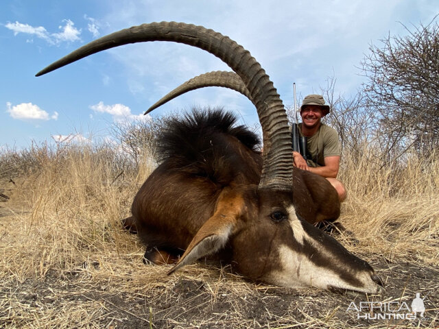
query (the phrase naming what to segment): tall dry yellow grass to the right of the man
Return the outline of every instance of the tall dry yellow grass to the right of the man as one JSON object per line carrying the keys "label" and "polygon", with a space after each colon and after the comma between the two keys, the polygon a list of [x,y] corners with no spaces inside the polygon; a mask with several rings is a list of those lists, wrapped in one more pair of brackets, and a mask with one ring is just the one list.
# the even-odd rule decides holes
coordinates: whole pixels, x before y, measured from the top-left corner
{"label": "tall dry yellow grass to the right of the man", "polygon": [[357,252],[391,261],[439,264],[439,160],[407,156],[381,167],[377,151],[365,147],[361,158],[346,151],[340,180],[348,199],[340,221],[360,241]]}

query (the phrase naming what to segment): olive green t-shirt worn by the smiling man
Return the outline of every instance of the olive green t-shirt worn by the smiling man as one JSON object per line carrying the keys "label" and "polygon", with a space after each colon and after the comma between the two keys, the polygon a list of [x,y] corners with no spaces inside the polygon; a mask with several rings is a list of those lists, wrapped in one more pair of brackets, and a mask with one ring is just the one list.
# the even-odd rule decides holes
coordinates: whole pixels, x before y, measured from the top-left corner
{"label": "olive green t-shirt worn by the smiling man", "polygon": [[[299,123],[298,127],[300,135],[302,135],[302,123]],[[327,156],[340,156],[341,154],[337,130],[322,123],[316,134],[308,137],[307,148],[308,166],[324,166],[324,158]]]}

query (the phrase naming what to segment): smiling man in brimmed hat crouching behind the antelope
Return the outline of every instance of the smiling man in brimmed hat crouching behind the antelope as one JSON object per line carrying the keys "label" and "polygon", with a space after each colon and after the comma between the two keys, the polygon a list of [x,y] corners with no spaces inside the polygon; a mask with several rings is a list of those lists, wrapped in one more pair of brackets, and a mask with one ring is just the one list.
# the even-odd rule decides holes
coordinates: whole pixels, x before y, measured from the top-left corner
{"label": "smiling man in brimmed hat crouching behind the antelope", "polygon": [[323,176],[334,186],[340,201],[346,198],[346,188],[337,180],[340,167],[340,143],[335,129],[322,123],[322,117],[329,113],[329,106],[322,95],[308,95],[300,106],[302,123],[299,132],[307,137],[307,160],[293,151],[294,165],[300,169]]}

